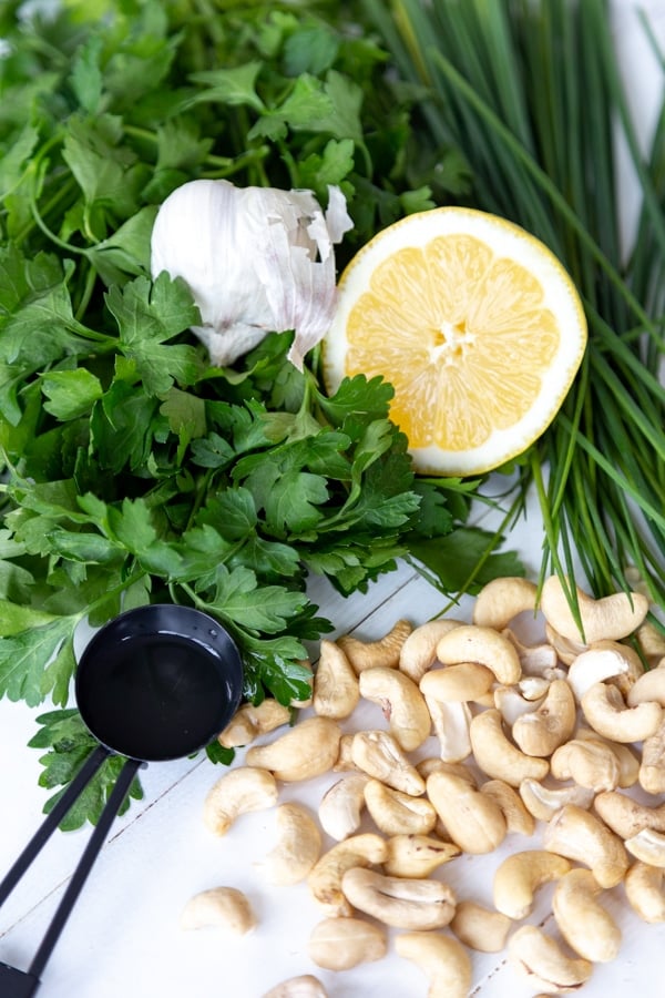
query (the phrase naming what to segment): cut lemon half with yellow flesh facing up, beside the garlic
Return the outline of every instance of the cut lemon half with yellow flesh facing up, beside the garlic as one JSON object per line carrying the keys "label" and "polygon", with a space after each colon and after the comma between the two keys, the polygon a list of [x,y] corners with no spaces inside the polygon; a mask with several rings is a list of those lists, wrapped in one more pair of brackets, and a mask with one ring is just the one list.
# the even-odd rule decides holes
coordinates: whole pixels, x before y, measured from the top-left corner
{"label": "cut lemon half with yellow flesh facing up, beside the garlic", "polygon": [[586,322],[543,243],[485,212],[441,207],[375,236],[339,281],[323,375],[382,375],[417,470],[478,475],[522,454],[556,415]]}

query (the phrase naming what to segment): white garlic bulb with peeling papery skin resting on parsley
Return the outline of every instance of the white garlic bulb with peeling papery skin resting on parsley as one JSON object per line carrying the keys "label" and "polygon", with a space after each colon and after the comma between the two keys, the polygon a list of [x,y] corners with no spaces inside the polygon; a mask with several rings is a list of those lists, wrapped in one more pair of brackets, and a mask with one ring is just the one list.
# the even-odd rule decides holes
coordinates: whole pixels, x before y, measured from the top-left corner
{"label": "white garlic bulb with peeling papery skin resting on parsley", "polygon": [[187,284],[202,318],[192,332],[212,364],[231,365],[268,333],[293,329],[288,359],[303,368],[335,310],[334,244],[354,224],[339,187],[328,197],[324,214],[311,191],[196,180],[164,201],[152,275],[166,271]]}

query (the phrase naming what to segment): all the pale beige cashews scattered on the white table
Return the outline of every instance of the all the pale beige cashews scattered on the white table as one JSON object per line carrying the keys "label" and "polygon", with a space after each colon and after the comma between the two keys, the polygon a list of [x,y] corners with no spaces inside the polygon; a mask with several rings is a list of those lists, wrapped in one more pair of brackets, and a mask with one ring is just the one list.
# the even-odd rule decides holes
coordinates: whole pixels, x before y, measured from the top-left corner
{"label": "all the pale beige cashews scattered on the white table", "polygon": [[[344,971],[392,949],[422,970],[429,998],[466,998],[473,953],[505,951],[534,992],[565,994],[620,953],[604,892],[665,921],[665,640],[641,593],[577,595],[582,633],[557,578],[539,607],[535,584],[507,578],[482,589],[470,624],[400,620],[379,641],[324,640],[299,704],[310,716],[279,733],[284,707],[245,705],[219,735],[247,751],[209,791],[204,822],[224,836],[276,807],[266,879],[308,885],[316,966]],[[524,644],[518,618],[538,611],[546,638]],[[354,727],[361,702],[376,726]],[[278,803],[280,784],[330,773],[317,815]],[[538,848],[499,864],[493,907],[447,884],[448,864],[534,834]],[[552,918],[529,924],[545,884]],[[203,924],[244,933],[255,919],[233,888],[213,888],[183,917]],[[308,971],[269,995],[325,996]]]}

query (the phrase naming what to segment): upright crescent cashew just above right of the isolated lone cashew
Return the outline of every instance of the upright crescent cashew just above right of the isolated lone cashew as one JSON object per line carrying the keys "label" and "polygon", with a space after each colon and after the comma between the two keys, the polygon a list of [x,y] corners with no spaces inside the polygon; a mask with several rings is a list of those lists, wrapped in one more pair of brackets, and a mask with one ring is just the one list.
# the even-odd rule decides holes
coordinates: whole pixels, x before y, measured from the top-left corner
{"label": "upright crescent cashew just above right of the isolated lone cashew", "polygon": [[295,802],[276,811],[278,839],[257,867],[269,884],[299,884],[310,873],[321,852],[321,833],[306,807]]}

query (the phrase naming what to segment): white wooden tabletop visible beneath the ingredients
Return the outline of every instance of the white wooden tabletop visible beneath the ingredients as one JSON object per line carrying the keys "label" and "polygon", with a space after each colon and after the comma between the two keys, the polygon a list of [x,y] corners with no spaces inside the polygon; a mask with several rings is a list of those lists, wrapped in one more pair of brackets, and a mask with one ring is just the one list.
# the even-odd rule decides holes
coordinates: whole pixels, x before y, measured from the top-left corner
{"label": "white wooden tabletop visible beneath the ingredients", "polygon": [[[654,79],[659,78],[638,37],[633,6],[633,0],[614,0],[616,37],[633,103],[647,130],[657,103]],[[665,39],[664,0],[641,6]],[[623,190],[625,228],[630,231],[635,202],[630,183]],[[532,511],[510,546],[522,552],[533,577],[541,543],[540,519]],[[415,624],[423,622],[443,603],[440,593],[407,566],[383,577],[365,597],[342,600],[320,580],[313,583],[310,594],[321,613],[334,621],[335,633],[352,631],[366,639],[380,637],[400,617]],[[471,600],[464,600],[451,615],[469,619],[470,610]],[[379,726],[380,713],[368,706],[362,719],[367,726]],[[35,731],[34,716],[43,710],[48,705],[30,710],[0,701],[0,875],[42,817],[47,793],[38,787],[39,752],[28,748],[27,742]],[[420,970],[393,950],[381,961],[339,974],[320,970],[310,961],[307,941],[320,912],[307,886],[268,889],[254,866],[275,841],[274,811],[244,816],[223,838],[215,838],[203,825],[203,800],[221,773],[205,756],[154,764],[143,771],[145,797],[133,803],[114,825],[47,965],[40,990],[43,998],[260,998],[278,981],[307,972],[318,975],[330,998],[424,996],[427,984]],[[280,801],[298,800],[316,809],[335,778],[284,786]],[[0,910],[0,960],[21,968],[29,965],[89,831],[57,833]],[[460,899],[491,904],[492,876],[500,860],[509,852],[539,844],[540,834],[532,841],[511,835],[495,853],[462,856],[436,876],[450,883]],[[256,929],[242,938],[218,930],[182,931],[178,918],[186,900],[222,884],[247,894],[258,919]],[[551,888],[539,893],[529,920],[555,933],[551,894]],[[657,998],[665,992],[665,925],[640,921],[622,887],[604,897],[621,925],[623,947],[615,961],[596,967],[582,994],[585,998],[633,994]],[[473,955],[471,994],[533,998],[532,988],[515,976],[503,955]]]}

